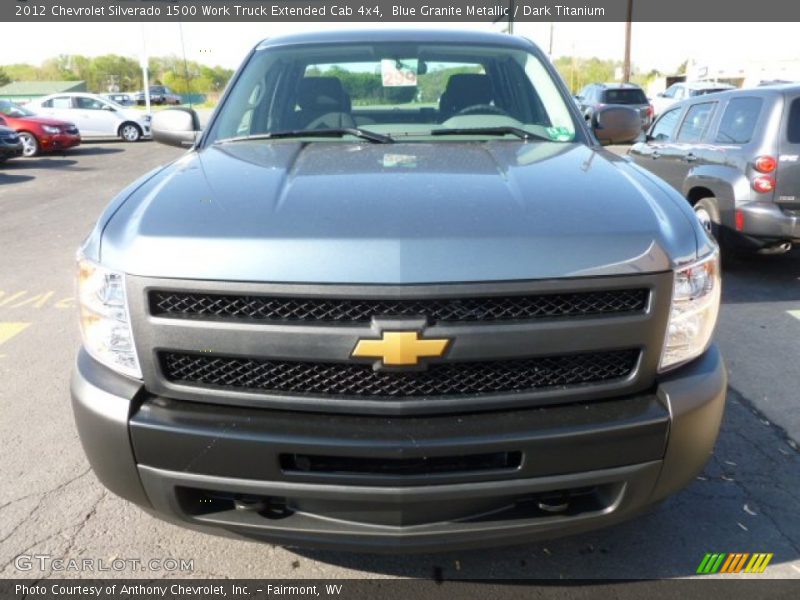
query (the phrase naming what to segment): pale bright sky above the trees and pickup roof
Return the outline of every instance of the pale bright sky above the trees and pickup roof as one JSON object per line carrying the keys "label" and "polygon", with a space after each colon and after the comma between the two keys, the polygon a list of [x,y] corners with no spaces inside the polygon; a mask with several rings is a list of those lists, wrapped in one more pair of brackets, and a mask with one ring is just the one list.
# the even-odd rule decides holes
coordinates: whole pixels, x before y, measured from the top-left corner
{"label": "pale bright sky above the trees and pickup roof", "polygon": [[[209,65],[235,68],[260,40],[285,33],[334,28],[442,27],[499,30],[489,23],[15,23],[5,27],[0,65],[40,64],[59,54],[122,54],[138,58],[143,45],[151,56],[181,55]],[[797,23],[634,23],[632,60],[638,69],[675,72],[687,58],[700,62],[800,59]],[[556,23],[553,56],[621,60],[624,23]],[[548,23],[515,23],[515,33],[547,51]],[[31,40],[35,40],[31,43]],[[24,49],[24,50],[22,50]]]}

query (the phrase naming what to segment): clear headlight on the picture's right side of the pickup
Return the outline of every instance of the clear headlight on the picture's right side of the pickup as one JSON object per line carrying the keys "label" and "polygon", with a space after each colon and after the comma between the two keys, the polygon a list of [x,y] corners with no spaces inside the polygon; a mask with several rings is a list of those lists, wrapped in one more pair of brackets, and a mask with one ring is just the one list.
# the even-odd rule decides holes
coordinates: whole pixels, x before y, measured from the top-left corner
{"label": "clear headlight on the picture's right side of the pickup", "polygon": [[719,251],[675,272],[660,371],[683,364],[706,351],[717,324],[720,287]]}

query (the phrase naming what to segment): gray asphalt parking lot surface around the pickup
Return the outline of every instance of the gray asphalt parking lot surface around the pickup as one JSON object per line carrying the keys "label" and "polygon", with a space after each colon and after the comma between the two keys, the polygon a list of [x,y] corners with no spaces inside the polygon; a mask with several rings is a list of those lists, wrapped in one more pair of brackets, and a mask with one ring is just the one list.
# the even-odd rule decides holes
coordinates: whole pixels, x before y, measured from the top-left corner
{"label": "gray asphalt parking lot surface around the pickup", "polygon": [[75,249],[117,191],[180,154],[108,142],[0,167],[0,575],[80,575],[17,568],[17,556],[37,554],[193,560],[186,572],[90,577],[638,579],[692,576],[714,551],[772,552],[766,576],[800,577],[797,250],[726,261],[717,339],[730,390],[716,450],[691,486],[621,526],[488,552],[369,556],[199,534],[107,493],[88,468],[69,405]]}

